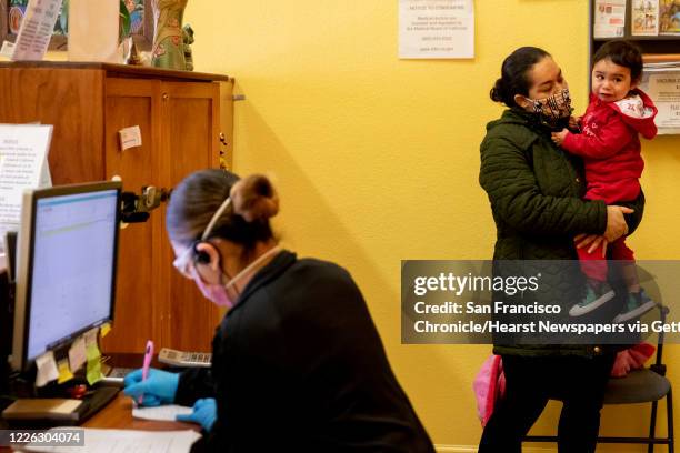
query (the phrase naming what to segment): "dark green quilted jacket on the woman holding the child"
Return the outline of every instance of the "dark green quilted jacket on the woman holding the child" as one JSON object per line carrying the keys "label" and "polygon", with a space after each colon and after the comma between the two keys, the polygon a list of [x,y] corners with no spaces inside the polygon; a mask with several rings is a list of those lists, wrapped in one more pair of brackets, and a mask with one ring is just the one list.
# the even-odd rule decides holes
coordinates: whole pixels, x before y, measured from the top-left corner
{"label": "dark green quilted jacket on the woman holding the child", "polygon": [[[578,260],[574,235],[604,232],[607,205],[582,200],[586,181],[581,160],[557,147],[550,130],[532,113],[519,108],[506,110],[487,125],[480,151],[479,182],[489,195],[497,228],[493,259],[560,260],[541,265],[541,290],[553,299],[559,294],[562,316],[568,316],[569,308],[583,294],[584,278],[578,261],[572,265],[564,260]],[[644,197],[640,193],[638,200],[619,204],[636,210],[627,215],[632,233],[642,218]],[[496,354],[593,355],[612,350],[594,344],[494,343]]]}

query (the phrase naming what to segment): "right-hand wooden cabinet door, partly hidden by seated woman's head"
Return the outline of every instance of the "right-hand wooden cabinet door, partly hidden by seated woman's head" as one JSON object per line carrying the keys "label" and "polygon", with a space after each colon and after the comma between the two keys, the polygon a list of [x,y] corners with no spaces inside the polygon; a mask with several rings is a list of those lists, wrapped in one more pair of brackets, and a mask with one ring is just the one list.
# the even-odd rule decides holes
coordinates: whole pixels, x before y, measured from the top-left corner
{"label": "right-hand wooden cabinet door, partly hidden by seated woman's head", "polygon": [[[174,187],[196,170],[219,165],[220,89],[214,82],[163,82],[161,91],[161,172],[163,183]],[[174,255],[164,231],[162,235],[161,260],[168,265],[161,266],[160,279],[169,282],[162,288],[169,301],[162,336],[174,349],[210,351],[220,312],[172,269]]]}

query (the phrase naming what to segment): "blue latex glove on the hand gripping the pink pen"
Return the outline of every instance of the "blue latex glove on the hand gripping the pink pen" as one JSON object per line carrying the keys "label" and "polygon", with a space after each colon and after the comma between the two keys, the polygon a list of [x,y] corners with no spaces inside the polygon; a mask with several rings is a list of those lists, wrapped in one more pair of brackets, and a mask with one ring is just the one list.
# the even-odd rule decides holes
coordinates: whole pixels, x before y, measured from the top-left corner
{"label": "blue latex glove on the hand gripping the pink pen", "polygon": [[123,379],[123,392],[136,401],[143,395],[142,405],[157,406],[174,401],[179,374],[150,369],[149,376],[142,381],[142,370],[134,370]]}

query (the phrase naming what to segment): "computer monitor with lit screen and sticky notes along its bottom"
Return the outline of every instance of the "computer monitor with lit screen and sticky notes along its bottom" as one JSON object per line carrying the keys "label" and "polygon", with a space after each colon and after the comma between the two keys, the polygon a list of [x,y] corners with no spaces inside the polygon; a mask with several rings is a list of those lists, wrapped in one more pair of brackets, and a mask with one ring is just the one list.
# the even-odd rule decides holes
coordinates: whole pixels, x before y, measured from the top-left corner
{"label": "computer monitor with lit screen and sticky notes along its bottom", "polygon": [[18,236],[10,363],[38,356],[113,319],[120,182],[27,191]]}

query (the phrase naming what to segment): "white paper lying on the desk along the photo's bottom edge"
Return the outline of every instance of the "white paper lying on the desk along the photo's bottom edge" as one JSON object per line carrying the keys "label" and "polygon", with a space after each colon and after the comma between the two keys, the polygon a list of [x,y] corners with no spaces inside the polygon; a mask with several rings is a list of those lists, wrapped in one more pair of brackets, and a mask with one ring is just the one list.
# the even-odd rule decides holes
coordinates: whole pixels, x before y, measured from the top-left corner
{"label": "white paper lying on the desk along the photo's bottom edge", "polygon": [[82,434],[84,446],[29,445],[24,450],[53,453],[186,453],[191,449],[191,444],[201,437],[191,430],[137,431],[86,427]]}

